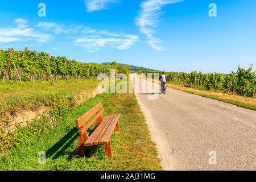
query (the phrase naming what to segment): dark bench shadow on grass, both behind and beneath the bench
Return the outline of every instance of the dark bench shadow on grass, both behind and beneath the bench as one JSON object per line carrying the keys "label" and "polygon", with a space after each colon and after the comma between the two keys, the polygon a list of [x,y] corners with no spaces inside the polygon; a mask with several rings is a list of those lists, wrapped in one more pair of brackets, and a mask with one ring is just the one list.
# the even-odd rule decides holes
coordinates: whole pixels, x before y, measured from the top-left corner
{"label": "dark bench shadow on grass, both behind and beneath the bench", "polygon": [[[89,131],[92,133],[92,131]],[[68,148],[79,138],[79,133],[77,128],[74,127],[69,133],[67,133],[59,142],[55,143],[49,150],[46,152],[47,158],[57,159],[60,156],[68,155],[68,160],[71,160],[76,156],[76,148],[73,150],[68,150]],[[100,146],[85,147],[84,156],[90,157],[100,150]]]}

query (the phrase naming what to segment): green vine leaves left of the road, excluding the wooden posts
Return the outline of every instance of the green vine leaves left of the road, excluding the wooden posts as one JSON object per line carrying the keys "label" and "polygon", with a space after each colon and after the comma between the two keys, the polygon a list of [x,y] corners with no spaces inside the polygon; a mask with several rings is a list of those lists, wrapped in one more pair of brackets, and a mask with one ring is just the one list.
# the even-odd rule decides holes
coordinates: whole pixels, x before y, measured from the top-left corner
{"label": "green vine leaves left of the road, excluding the wooden posts", "polygon": [[[7,60],[9,59],[10,49],[0,49],[0,69],[7,68]],[[35,72],[37,75],[42,75],[46,71],[49,75],[49,69],[53,75],[60,76],[82,76],[95,77],[100,73],[110,74],[109,65],[79,63],[75,60],[68,60],[64,56],[51,56],[47,62],[46,52],[27,51],[26,56],[22,60],[23,51],[14,51],[10,65],[10,78],[13,78],[15,69],[12,63],[15,63],[16,68],[20,66],[22,76],[28,73]]]}

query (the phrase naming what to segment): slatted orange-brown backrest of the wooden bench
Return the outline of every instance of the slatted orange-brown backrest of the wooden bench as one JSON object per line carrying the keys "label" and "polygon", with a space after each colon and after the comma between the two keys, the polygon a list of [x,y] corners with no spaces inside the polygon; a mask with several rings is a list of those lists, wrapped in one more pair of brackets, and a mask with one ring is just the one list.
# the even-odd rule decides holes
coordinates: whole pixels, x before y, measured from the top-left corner
{"label": "slatted orange-brown backrest of the wooden bench", "polygon": [[79,129],[80,135],[84,135],[94,122],[96,122],[97,126],[103,120],[102,113],[104,112],[104,109],[102,109],[102,107],[103,105],[100,102],[92,109],[90,109],[87,113],[81,115],[81,117],[76,119],[76,127],[77,129]]}

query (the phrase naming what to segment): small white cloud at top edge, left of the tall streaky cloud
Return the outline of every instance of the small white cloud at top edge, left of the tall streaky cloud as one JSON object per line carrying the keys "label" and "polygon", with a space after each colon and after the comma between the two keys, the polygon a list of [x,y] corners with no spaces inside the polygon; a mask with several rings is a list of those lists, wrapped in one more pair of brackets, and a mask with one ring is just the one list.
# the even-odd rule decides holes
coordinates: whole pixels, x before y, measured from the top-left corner
{"label": "small white cloud at top edge, left of the tall streaky cloud", "polygon": [[119,0],[85,0],[86,11],[100,11],[108,9],[109,4],[118,3]]}

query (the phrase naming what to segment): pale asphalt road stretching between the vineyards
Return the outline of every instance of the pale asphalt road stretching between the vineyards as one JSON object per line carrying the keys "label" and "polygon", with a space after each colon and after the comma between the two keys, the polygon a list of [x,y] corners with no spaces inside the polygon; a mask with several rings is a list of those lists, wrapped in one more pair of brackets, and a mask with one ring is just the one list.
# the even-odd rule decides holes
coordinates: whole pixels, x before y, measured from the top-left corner
{"label": "pale asphalt road stretching between the vineyards", "polygon": [[256,111],[133,79],[165,170],[256,170]]}

